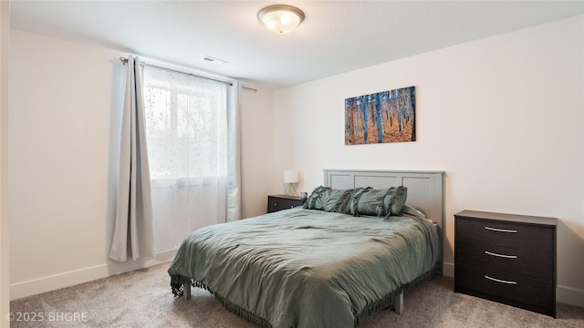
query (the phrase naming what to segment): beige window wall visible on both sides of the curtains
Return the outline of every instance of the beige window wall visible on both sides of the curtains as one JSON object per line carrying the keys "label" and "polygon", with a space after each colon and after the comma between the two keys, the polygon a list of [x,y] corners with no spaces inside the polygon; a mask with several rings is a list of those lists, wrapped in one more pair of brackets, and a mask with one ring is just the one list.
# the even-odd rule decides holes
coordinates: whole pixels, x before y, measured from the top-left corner
{"label": "beige window wall visible on both sides of the curtains", "polygon": [[[127,54],[16,29],[11,54],[11,298],[171,260],[108,259]],[[245,216],[266,208],[271,99],[241,97]]]}

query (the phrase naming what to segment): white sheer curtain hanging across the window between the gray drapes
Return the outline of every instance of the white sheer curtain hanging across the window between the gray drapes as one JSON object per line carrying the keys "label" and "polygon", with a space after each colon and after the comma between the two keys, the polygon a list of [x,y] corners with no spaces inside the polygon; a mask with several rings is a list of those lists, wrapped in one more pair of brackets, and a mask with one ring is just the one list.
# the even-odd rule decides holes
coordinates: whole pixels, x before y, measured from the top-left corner
{"label": "white sheer curtain hanging across the window between the gray drapes", "polygon": [[238,96],[232,95],[238,88],[160,67],[144,69],[157,251],[178,248],[196,229],[240,219],[239,141],[228,128],[235,118],[239,133]]}

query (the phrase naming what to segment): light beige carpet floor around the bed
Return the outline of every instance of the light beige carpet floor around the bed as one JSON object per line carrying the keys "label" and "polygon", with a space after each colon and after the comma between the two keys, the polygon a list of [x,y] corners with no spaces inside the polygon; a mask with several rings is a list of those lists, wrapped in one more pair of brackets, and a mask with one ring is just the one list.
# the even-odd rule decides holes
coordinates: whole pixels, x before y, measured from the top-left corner
{"label": "light beige carpet floor around the bed", "polygon": [[[11,327],[254,327],[202,289],[193,288],[191,300],[174,299],[168,267],[162,264],[10,302],[15,314]],[[404,294],[403,313],[385,310],[367,317],[360,327],[584,327],[584,309],[576,306],[558,303],[554,319],[453,290],[452,278],[435,277]],[[43,320],[30,321],[32,313],[37,313],[36,319],[42,313]]]}

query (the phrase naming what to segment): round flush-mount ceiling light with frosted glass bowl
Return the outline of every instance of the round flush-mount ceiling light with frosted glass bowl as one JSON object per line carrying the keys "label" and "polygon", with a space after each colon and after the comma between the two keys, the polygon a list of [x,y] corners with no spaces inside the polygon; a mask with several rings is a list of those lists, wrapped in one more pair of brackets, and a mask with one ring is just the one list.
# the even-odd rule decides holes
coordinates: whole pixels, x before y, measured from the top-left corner
{"label": "round flush-mount ceiling light with frosted glass bowl", "polygon": [[271,31],[286,34],[304,20],[304,13],[292,5],[268,5],[257,13],[257,19]]}

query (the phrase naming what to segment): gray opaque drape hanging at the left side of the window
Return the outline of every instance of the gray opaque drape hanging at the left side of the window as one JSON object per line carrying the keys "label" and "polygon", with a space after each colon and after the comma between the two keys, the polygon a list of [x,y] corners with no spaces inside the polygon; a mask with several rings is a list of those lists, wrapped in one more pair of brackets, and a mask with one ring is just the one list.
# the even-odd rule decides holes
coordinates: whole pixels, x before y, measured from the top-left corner
{"label": "gray opaque drape hanging at the left side of the window", "polygon": [[121,122],[120,177],[110,259],[155,256],[140,58],[129,56]]}

